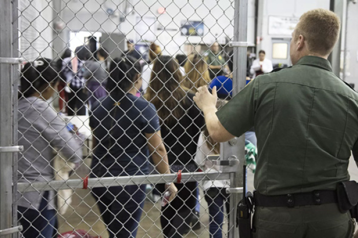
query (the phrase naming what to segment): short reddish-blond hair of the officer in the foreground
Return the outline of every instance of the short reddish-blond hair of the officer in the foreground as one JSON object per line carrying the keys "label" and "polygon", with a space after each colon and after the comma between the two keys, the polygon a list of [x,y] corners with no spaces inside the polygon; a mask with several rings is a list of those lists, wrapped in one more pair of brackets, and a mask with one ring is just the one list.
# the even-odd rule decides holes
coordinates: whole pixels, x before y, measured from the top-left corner
{"label": "short reddish-blond hair of the officer in the foreground", "polygon": [[302,35],[307,49],[313,53],[328,55],[337,42],[341,28],[339,17],[325,9],[314,9],[304,13],[296,26],[294,38]]}

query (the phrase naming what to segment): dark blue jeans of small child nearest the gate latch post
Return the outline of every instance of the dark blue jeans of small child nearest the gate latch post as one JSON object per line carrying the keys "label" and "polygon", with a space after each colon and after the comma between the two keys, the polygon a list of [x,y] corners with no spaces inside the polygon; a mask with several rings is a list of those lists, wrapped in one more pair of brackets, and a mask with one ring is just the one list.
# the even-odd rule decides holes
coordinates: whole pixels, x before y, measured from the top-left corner
{"label": "dark blue jeans of small child nearest the gate latch post", "polygon": [[209,208],[210,237],[221,238],[224,205],[227,212],[230,209],[229,194],[226,193],[226,188],[211,187],[205,191],[205,200]]}

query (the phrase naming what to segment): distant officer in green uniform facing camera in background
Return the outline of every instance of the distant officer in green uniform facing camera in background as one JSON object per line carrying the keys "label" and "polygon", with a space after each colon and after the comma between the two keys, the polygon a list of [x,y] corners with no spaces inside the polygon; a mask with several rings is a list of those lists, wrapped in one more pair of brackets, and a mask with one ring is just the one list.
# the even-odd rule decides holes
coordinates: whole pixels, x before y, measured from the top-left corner
{"label": "distant officer in green uniform facing camera in background", "polygon": [[225,58],[220,54],[220,45],[216,41],[210,46],[210,50],[204,54],[204,59],[209,65],[211,79],[220,76],[222,74],[222,68],[227,67]]}

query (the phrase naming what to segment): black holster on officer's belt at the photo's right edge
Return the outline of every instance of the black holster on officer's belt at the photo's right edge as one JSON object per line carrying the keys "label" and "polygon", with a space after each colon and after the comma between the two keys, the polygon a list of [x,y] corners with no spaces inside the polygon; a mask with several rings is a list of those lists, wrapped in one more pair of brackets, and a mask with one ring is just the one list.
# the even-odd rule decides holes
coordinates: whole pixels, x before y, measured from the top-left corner
{"label": "black holster on officer's belt at the photo's right edge", "polygon": [[351,217],[358,218],[358,185],[354,180],[339,182],[337,185],[338,207],[342,213],[348,210]]}

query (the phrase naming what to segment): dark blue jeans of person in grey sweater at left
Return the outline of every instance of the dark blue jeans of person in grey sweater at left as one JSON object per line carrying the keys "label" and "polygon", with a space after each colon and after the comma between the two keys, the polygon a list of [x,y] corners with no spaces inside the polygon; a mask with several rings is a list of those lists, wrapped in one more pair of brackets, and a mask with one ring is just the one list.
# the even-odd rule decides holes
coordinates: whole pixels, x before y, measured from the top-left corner
{"label": "dark blue jeans of person in grey sweater at left", "polygon": [[45,192],[38,210],[18,206],[18,221],[23,226],[23,237],[25,238],[52,238],[54,225],[56,223],[56,210],[46,209],[48,192]]}

